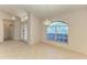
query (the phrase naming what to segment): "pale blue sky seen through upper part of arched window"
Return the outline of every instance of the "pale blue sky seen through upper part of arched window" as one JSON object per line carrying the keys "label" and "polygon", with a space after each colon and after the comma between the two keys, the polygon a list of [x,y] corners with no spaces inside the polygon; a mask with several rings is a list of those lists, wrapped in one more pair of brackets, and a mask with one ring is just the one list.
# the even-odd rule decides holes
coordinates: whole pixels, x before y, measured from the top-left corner
{"label": "pale blue sky seen through upper part of arched window", "polygon": [[52,23],[50,24],[50,26],[47,28],[47,33],[55,33],[57,30],[57,33],[61,33],[61,34],[67,34],[67,30],[68,30],[68,26],[66,23],[63,23],[63,22],[55,22],[55,23]]}

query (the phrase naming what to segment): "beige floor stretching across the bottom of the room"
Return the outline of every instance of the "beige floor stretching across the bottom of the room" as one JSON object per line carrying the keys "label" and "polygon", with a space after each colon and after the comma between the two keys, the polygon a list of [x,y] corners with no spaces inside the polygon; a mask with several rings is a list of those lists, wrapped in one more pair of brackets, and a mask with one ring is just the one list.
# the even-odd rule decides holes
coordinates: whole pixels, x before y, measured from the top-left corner
{"label": "beige floor stretching across the bottom of the room", "polygon": [[19,41],[0,44],[0,58],[87,58],[87,55],[39,43],[29,45]]}

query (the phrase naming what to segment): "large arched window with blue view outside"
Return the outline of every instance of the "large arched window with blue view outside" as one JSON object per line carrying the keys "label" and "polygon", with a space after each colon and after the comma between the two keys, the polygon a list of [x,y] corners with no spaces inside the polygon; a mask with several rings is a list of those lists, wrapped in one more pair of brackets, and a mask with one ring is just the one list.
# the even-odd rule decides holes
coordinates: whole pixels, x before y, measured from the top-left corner
{"label": "large arched window with blue view outside", "polygon": [[46,37],[51,41],[68,42],[68,25],[65,22],[53,22],[46,28]]}

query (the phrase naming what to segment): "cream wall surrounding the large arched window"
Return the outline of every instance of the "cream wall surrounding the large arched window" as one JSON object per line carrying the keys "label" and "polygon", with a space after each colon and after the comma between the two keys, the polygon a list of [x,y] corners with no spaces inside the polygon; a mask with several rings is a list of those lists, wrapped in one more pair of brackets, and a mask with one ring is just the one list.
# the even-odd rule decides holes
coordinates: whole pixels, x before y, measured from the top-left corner
{"label": "cream wall surrounding the large arched window", "polygon": [[87,10],[69,12],[52,18],[53,21],[63,20],[68,23],[68,44],[59,44],[58,42],[47,41],[45,35],[45,26],[42,23],[42,41],[55,44],[68,50],[87,54]]}

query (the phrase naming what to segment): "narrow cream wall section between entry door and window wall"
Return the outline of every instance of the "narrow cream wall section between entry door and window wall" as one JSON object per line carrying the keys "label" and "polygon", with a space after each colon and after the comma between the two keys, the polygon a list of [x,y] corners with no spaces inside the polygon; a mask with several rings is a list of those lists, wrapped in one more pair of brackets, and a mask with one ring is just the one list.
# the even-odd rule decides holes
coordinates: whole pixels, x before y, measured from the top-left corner
{"label": "narrow cream wall section between entry door and window wall", "polygon": [[30,44],[34,44],[34,43],[39,43],[40,40],[41,40],[41,24],[40,24],[40,20],[33,15],[33,14],[30,14],[30,20],[29,20],[29,25],[30,25]]}

